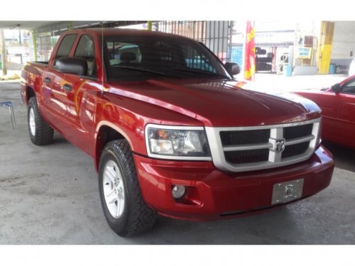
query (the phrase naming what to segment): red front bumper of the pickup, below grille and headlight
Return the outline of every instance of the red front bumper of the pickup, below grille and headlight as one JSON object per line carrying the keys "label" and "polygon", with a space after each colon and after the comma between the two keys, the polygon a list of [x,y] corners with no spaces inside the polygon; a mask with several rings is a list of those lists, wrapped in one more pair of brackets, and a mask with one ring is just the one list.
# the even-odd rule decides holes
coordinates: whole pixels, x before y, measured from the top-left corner
{"label": "red front bumper of the pickup, below grille and headlight", "polygon": [[[322,146],[305,162],[271,170],[222,172],[212,162],[154,160],[134,155],[143,199],[159,214],[208,220],[239,216],[273,206],[273,185],[303,179],[302,198],[329,186],[332,155]],[[171,194],[174,184],[187,187],[182,200]]]}

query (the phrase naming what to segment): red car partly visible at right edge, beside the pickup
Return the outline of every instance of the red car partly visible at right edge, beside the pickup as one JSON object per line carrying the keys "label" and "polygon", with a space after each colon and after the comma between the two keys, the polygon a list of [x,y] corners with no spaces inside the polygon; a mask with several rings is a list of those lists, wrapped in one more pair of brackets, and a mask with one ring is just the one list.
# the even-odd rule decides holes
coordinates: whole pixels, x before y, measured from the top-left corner
{"label": "red car partly visible at right edge, beside the pickup", "polygon": [[322,109],[322,139],[355,148],[355,75],[320,91],[295,92]]}

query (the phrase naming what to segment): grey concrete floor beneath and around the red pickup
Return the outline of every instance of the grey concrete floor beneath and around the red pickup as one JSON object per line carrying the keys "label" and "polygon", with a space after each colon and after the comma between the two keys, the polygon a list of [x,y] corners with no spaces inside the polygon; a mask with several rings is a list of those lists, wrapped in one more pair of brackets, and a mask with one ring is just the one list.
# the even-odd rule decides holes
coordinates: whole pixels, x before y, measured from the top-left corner
{"label": "grey concrete floor beneath and around the red pickup", "polygon": [[[312,77],[257,74],[280,87],[307,87]],[[329,84],[344,77],[329,79]],[[257,84],[257,83],[256,83]],[[265,84],[263,82],[263,84]],[[18,82],[0,82],[0,244],[355,244],[355,150],[325,143],[336,169],[330,187],[303,201],[224,221],[192,222],[160,217],[146,235],[120,238],[107,225],[92,159],[60,135],[37,147],[28,136],[26,106]]]}

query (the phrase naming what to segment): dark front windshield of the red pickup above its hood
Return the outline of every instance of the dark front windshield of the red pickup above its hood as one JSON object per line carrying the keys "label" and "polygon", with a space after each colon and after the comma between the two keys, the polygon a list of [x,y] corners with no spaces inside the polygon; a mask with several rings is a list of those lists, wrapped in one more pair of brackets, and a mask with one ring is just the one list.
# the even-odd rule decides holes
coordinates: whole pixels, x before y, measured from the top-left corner
{"label": "dark front windshield of the red pickup above its hood", "polygon": [[109,80],[231,79],[212,52],[185,38],[111,36],[104,38],[104,57]]}

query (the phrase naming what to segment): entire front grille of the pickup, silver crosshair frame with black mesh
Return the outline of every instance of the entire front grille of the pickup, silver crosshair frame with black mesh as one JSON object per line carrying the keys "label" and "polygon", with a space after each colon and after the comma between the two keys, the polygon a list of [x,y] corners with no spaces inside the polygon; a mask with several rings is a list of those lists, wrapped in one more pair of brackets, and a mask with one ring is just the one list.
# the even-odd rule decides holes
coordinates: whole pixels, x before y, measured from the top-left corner
{"label": "entire front grille of the pickup, silver crosshair frame with black mesh", "polygon": [[[315,150],[320,118],[243,128],[206,128],[212,160],[221,170],[242,172],[307,160]],[[217,140],[217,141],[216,141]]]}

